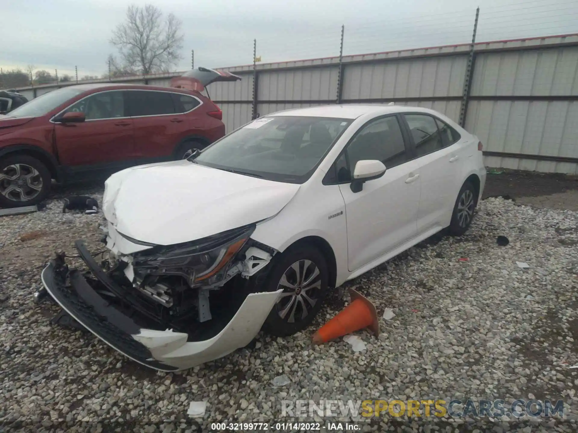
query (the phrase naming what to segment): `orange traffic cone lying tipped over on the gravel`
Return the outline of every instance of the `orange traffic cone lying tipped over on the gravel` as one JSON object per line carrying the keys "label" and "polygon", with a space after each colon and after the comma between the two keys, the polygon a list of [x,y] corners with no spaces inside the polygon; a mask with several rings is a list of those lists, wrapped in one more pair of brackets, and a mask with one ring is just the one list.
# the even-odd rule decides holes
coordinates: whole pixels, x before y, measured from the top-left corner
{"label": "orange traffic cone lying tipped over on the gravel", "polygon": [[313,344],[325,343],[366,327],[379,335],[375,306],[353,289],[349,289],[349,295],[351,303],[313,334]]}

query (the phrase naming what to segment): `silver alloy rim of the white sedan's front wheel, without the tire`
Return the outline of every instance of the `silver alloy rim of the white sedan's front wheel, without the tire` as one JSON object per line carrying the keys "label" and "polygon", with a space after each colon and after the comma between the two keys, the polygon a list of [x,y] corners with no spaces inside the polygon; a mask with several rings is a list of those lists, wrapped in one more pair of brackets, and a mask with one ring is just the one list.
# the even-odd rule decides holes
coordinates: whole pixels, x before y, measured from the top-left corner
{"label": "silver alloy rim of the white sedan's front wheel, without the tire", "polygon": [[321,273],[311,260],[299,260],[287,268],[277,290],[283,293],[277,301],[282,320],[295,323],[304,320],[317,303],[321,291]]}

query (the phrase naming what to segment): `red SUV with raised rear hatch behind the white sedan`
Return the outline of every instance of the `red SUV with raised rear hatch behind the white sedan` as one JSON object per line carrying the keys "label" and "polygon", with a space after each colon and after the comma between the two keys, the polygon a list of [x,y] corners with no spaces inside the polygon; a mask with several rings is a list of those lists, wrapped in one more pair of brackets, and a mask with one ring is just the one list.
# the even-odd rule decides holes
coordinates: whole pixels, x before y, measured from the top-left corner
{"label": "red SUV with raised rear hatch behind the white sedan", "polygon": [[199,68],[171,87],[73,85],[0,115],[0,207],[39,203],[51,179],[84,180],[188,158],[225,135],[223,113],[201,92],[234,80],[240,77]]}

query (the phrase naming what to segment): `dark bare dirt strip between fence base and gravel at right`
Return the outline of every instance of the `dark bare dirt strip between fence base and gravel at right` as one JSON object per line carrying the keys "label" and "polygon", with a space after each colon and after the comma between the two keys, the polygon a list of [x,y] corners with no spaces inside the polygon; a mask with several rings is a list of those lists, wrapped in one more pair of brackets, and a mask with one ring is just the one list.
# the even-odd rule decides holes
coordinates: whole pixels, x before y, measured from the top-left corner
{"label": "dark bare dirt strip between fence base and gravel at right", "polygon": [[486,188],[482,199],[502,196],[517,204],[540,208],[578,211],[578,177],[557,173],[537,173],[488,169]]}

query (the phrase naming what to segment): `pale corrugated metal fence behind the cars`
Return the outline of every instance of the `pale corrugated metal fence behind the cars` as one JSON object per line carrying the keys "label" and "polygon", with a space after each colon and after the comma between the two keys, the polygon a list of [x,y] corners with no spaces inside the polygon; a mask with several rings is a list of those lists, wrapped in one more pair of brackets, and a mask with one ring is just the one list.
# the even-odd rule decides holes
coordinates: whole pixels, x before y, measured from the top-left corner
{"label": "pale corrugated metal fence behind the cars", "polygon": [[[292,108],[342,103],[416,105],[462,123],[486,165],[578,173],[578,35],[223,68],[242,77],[209,86],[227,130]],[[341,71],[341,72],[340,72]],[[171,76],[115,81],[168,86]],[[255,79],[254,79],[255,78]],[[464,85],[469,84],[469,85]],[[21,89],[32,98],[54,86]],[[465,93],[465,94],[464,94]]]}

